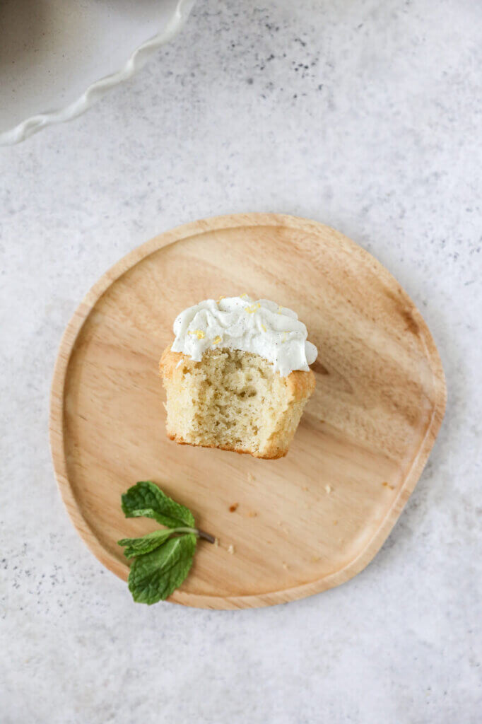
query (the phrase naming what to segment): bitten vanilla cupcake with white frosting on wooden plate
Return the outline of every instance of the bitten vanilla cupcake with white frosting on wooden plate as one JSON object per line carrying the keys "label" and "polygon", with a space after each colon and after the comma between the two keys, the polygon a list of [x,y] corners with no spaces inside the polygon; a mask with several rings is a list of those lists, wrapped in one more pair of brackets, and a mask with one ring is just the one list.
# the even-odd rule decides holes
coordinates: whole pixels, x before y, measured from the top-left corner
{"label": "bitten vanilla cupcake with white frosting on wooden plate", "polygon": [[291,309],[207,299],[174,321],[161,357],[168,436],[181,445],[282,458],[315,389],[315,345]]}

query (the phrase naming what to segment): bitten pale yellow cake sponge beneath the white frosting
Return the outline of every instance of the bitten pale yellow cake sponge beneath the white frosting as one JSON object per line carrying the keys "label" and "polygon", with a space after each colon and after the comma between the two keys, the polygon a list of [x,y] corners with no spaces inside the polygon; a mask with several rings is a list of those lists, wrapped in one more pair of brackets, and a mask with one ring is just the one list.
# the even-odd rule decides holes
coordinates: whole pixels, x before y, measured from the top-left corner
{"label": "bitten pale yellow cake sponge beneath the white frosting", "polygon": [[159,362],[168,436],[181,445],[282,458],[315,389],[311,370],[282,376],[254,353],[209,350],[201,361],[169,346]]}

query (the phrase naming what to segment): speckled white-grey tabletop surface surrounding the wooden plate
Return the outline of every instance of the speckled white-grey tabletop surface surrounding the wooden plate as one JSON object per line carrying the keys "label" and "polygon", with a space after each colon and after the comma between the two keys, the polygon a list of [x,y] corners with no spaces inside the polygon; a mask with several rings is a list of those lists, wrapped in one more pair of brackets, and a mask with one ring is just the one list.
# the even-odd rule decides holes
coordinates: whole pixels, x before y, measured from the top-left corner
{"label": "speckled white-grey tabletop surface surrounding the wooden plate", "polygon": [[[200,1],[132,82],[1,151],[2,724],[481,721],[481,36],[473,0]],[[350,583],[136,606],[56,491],[56,348],[119,256],[246,210],[328,222],[388,266],[439,345],[447,416]]]}

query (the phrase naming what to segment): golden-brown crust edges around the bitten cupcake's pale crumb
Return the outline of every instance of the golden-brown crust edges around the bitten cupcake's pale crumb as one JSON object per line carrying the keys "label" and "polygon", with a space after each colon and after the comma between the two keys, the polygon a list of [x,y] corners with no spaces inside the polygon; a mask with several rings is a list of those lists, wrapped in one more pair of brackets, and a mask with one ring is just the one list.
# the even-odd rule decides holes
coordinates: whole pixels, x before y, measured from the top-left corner
{"label": "golden-brown crust edges around the bitten cupcake's pale crumb", "polygon": [[[184,364],[179,364],[181,361]],[[159,374],[163,379],[164,387],[167,389],[170,382],[179,382],[184,375],[185,366],[191,366],[193,364],[196,363],[193,362],[189,356],[181,352],[172,352],[170,345],[166,347],[161,355],[161,359],[159,360]],[[286,377],[282,377],[282,380],[288,388],[289,406],[286,414],[288,416],[292,416],[295,411],[298,411],[298,415],[300,415],[300,408],[303,410],[306,400],[308,400],[308,397],[310,397],[315,389],[316,380],[313,371],[309,370],[306,372],[303,370],[295,370]],[[184,439],[182,435],[178,434],[175,430],[170,430],[167,424],[166,428],[167,437],[174,440],[174,442],[177,442],[178,445],[218,447],[219,450],[238,452],[240,455],[253,455],[255,458],[262,458],[264,460],[276,460],[277,458],[283,458],[288,452],[289,442],[291,442],[292,437],[291,435],[287,442],[284,443],[282,437],[274,436],[274,438],[269,442],[269,445],[263,449],[261,454],[260,452],[255,452],[253,450],[240,450],[239,448],[231,447],[229,445],[200,445],[199,443],[190,442],[189,440]]]}

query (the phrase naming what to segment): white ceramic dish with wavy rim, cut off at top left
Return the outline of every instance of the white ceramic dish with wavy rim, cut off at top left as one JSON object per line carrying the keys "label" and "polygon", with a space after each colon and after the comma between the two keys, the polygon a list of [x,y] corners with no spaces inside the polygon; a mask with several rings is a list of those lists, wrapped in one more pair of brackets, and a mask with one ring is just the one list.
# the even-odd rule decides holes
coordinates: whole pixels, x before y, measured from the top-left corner
{"label": "white ceramic dish with wavy rim, cut off at top left", "polygon": [[184,25],[195,0],[1,0],[0,145],[88,109]]}

